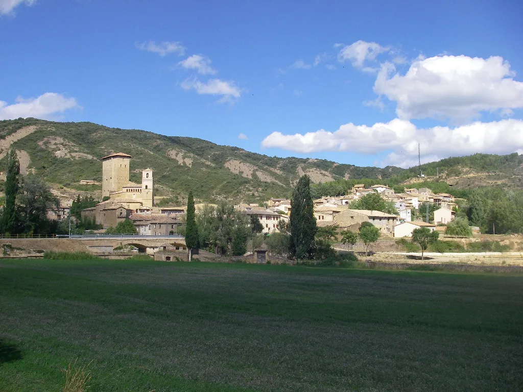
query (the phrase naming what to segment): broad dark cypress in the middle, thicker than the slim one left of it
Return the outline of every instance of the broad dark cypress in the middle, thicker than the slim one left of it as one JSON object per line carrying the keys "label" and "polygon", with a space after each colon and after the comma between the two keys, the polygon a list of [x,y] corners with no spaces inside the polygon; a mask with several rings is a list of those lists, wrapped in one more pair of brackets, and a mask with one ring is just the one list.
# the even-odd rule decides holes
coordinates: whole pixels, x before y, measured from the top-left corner
{"label": "broad dark cypress in the middle, thicker than the slim one left of it", "polygon": [[297,259],[308,258],[316,235],[311,197],[311,179],[303,175],[292,192],[290,216],[290,253]]}

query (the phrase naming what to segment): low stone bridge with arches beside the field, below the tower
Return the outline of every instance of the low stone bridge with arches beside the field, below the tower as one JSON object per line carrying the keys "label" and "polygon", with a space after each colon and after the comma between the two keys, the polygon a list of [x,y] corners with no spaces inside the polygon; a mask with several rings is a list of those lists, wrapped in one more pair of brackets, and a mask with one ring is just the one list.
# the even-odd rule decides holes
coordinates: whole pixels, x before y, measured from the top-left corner
{"label": "low stone bridge with arches beside the field, below the tower", "polygon": [[179,247],[180,250],[186,249],[185,238],[174,236],[82,236],[76,237],[76,239],[82,241],[82,244],[93,253],[113,253],[115,248],[125,245],[132,245],[138,248],[139,253],[146,253],[147,255],[154,255],[158,248],[166,244]]}

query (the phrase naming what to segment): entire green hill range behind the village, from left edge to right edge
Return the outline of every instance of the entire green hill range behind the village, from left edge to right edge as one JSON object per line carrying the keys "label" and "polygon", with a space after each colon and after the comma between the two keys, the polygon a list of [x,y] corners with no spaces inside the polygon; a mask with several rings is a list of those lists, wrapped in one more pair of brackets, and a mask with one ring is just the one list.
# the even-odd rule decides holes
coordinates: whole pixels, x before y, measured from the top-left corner
{"label": "entire green hill range behind the village, from left edge to right edge", "polygon": [[5,167],[10,142],[19,152],[22,173],[35,172],[50,183],[77,191],[98,190],[97,186],[84,189],[78,181],[101,180],[101,157],[115,152],[131,154],[131,181],[140,182],[141,170],[150,167],[156,194],[180,201],[189,190],[203,201],[290,197],[292,186],[303,174],[313,183],[327,183],[317,188],[317,195],[345,192],[355,183],[426,186],[457,197],[466,197],[471,188],[523,187],[523,156],[517,153],[442,159],[422,165],[426,177],[419,178],[417,166],[358,167],[325,159],[277,158],[194,137],[28,118],[0,121],[0,170]]}

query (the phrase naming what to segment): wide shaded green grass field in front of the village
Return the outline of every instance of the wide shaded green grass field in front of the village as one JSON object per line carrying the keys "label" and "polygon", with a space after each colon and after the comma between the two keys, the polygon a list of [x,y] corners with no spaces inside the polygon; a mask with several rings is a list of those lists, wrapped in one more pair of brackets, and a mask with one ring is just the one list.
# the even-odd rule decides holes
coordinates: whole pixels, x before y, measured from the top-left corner
{"label": "wide shaded green grass field in front of the village", "polygon": [[0,391],[523,390],[523,276],[0,261]]}

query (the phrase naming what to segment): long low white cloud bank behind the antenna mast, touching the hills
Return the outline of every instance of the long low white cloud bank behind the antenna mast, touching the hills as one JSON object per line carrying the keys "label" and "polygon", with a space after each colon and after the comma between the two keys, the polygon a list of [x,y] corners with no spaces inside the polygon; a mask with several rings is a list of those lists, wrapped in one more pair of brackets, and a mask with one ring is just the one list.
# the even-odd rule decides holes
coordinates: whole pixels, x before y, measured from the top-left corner
{"label": "long low white cloud bank behind the antenna mast, touching the hills", "polygon": [[417,161],[418,143],[425,159],[474,153],[512,153],[523,148],[523,120],[474,122],[456,128],[436,126],[428,129],[417,129],[410,121],[402,119],[372,126],[348,123],[335,132],[323,129],[303,135],[273,132],[261,145],[298,153],[349,151],[378,154],[392,151],[382,164],[405,167],[413,159]]}

